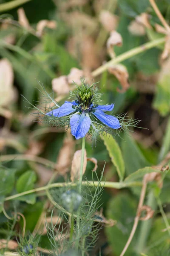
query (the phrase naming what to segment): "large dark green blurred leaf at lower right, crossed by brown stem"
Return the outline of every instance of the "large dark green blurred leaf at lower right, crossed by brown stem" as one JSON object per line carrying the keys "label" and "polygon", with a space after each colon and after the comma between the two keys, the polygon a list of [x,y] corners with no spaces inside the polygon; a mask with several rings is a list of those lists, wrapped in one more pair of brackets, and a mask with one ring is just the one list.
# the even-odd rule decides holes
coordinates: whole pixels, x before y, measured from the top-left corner
{"label": "large dark green blurred leaf at lower right, crossed by brown stem", "polygon": [[[133,221],[136,215],[137,202],[127,194],[118,194],[113,198],[107,207],[106,217],[117,221],[113,227],[105,228],[108,241],[111,244],[113,254],[119,256],[132,230]],[[137,230],[125,255],[136,256],[133,251],[136,245]]]}

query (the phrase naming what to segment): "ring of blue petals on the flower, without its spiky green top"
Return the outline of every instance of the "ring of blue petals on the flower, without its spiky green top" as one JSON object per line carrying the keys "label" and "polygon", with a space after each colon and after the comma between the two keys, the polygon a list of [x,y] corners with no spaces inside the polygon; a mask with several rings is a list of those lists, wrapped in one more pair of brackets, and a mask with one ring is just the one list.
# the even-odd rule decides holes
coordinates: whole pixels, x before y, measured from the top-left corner
{"label": "ring of blue petals on the flower, without its spiky green top", "polygon": [[[90,102],[90,101],[89,101]],[[91,125],[96,129],[94,119],[99,119],[102,124],[107,125],[110,128],[120,128],[119,120],[115,116],[105,114],[106,111],[112,111],[114,104],[111,105],[95,105],[91,102],[88,104],[82,104],[80,101],[65,103],[57,109],[54,109],[46,115],[48,116],[68,116],[70,118],[71,134],[78,140],[85,137],[88,133]]]}

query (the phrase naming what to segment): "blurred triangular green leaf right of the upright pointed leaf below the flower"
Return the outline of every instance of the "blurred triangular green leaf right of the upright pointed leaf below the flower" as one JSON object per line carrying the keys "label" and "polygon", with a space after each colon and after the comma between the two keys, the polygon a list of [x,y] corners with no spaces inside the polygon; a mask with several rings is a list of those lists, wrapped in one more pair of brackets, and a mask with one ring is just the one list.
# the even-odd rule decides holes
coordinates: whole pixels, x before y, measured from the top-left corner
{"label": "blurred triangular green leaf right of the upright pointed leaf below the flower", "polygon": [[128,134],[125,134],[124,140],[122,141],[122,154],[126,163],[125,169],[127,175],[145,166],[150,166],[150,163],[145,159],[135,140]]}

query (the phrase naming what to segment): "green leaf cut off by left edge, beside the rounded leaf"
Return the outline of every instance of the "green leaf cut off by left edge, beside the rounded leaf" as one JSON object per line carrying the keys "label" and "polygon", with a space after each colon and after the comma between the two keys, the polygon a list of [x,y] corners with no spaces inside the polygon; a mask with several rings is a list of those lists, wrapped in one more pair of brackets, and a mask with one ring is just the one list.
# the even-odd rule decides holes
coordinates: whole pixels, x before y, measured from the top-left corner
{"label": "green leaf cut off by left edge, beside the rounded leaf", "polygon": [[15,171],[13,169],[0,168],[0,195],[11,193],[15,182]]}

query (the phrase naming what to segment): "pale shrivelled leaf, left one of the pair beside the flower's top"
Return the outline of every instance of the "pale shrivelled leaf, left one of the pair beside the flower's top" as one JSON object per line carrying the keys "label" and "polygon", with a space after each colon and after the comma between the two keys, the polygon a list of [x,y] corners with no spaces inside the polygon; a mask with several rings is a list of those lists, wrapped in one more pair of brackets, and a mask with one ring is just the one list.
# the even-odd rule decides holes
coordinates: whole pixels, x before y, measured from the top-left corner
{"label": "pale shrivelled leaf, left one of the pair beside the flower's top", "polygon": [[57,95],[64,95],[69,93],[70,86],[68,84],[67,76],[59,76],[52,80],[52,88]]}

